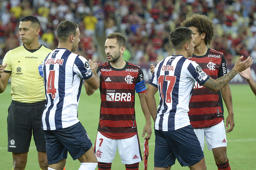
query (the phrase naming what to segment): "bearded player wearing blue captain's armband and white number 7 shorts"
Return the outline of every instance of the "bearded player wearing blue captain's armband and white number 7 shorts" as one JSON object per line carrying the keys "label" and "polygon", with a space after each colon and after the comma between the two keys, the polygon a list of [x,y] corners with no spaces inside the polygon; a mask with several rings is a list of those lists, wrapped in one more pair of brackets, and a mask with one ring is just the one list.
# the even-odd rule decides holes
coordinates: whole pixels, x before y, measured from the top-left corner
{"label": "bearded player wearing blue captain's armband and white number 7 shorts", "polygon": [[[138,170],[142,161],[140,142],[135,118],[135,92],[138,93],[146,125],[142,137],[150,139],[151,116],[145,101],[146,85],[139,66],[124,61],[125,38],[121,33],[111,33],[105,42],[108,62],[98,64],[100,77],[100,122],[94,152],[98,159],[98,170],[110,170],[116,150],[125,168]],[[95,61],[89,61],[96,68]],[[85,83],[88,95],[95,92]]]}

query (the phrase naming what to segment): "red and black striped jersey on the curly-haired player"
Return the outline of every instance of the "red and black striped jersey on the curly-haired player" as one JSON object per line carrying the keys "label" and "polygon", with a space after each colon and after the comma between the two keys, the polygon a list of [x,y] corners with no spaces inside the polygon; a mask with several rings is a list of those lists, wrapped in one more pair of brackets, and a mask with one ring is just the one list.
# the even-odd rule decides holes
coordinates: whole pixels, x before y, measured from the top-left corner
{"label": "red and black striped jersey on the curly-haired player", "polygon": [[[203,56],[190,57],[212,79],[227,74],[227,64],[223,53],[208,48]],[[195,82],[193,93],[189,102],[188,116],[194,129],[209,128],[223,119],[223,103],[220,91],[213,92]]]}

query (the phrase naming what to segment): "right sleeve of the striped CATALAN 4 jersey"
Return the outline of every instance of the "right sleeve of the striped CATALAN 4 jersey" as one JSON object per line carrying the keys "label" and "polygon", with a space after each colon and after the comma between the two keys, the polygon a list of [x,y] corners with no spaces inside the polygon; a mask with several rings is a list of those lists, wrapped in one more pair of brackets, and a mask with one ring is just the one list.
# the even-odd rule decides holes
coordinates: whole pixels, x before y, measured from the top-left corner
{"label": "right sleeve of the striped CATALAN 4 jersey", "polygon": [[76,74],[78,74],[84,80],[92,77],[93,73],[90,69],[90,64],[84,57],[80,55],[76,57],[73,69],[76,72]]}

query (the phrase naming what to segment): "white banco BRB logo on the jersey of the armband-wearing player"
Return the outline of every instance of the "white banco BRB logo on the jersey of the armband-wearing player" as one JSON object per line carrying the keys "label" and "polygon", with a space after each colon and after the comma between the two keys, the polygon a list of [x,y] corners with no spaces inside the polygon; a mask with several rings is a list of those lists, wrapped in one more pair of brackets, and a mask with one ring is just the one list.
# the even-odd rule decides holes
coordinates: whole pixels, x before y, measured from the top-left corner
{"label": "white banco BRB logo on the jersey of the armband-wearing player", "polygon": [[131,93],[115,93],[115,90],[107,90],[107,101],[131,101]]}

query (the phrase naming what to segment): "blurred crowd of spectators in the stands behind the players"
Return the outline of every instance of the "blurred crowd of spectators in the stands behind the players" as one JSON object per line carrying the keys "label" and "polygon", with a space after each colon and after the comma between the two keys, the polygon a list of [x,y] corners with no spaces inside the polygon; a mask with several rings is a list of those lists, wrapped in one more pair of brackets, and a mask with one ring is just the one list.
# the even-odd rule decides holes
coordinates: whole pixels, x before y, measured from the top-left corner
{"label": "blurred crowd of spectators in the stands behind the players", "polygon": [[81,32],[77,54],[104,62],[105,37],[121,32],[127,40],[124,59],[143,64],[171,55],[170,31],[186,15],[202,13],[215,25],[210,48],[224,53],[227,63],[238,55],[256,62],[255,0],[4,0],[0,6],[0,59],[21,44],[19,20],[27,15],[39,18],[40,43],[48,48],[58,45],[60,21],[71,20]]}

